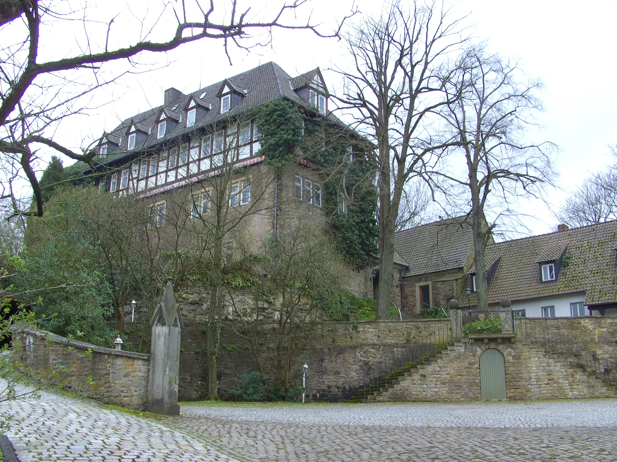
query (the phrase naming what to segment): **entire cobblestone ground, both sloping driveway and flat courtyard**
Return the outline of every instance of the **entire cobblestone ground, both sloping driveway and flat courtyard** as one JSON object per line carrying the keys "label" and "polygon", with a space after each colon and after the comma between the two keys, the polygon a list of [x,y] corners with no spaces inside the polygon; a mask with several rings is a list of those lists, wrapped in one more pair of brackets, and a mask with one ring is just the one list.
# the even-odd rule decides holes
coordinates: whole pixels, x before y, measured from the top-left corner
{"label": "entire cobblestone ground, both sloping driveway and flat courtyard", "polygon": [[617,460],[617,400],[183,403],[143,418],[43,393],[10,410],[22,462]]}

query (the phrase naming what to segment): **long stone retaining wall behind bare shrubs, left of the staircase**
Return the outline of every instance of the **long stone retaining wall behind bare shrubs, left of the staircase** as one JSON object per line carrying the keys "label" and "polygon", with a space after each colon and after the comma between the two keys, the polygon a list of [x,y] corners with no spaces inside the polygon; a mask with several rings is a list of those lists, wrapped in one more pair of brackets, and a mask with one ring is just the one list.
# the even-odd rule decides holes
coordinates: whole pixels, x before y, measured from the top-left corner
{"label": "long stone retaining wall behind bare shrubs, left of the staircase", "polygon": [[[261,328],[269,331],[272,326],[264,324]],[[205,327],[205,323],[184,324],[181,334],[180,400],[204,399],[207,393]],[[147,326],[128,323],[126,328],[132,332],[125,342],[132,348],[139,345],[138,333],[146,333],[144,340],[149,338]],[[249,341],[240,331],[241,328],[233,323],[225,323],[221,331],[218,380],[222,397],[230,395],[229,389],[238,374],[257,370]],[[435,331],[439,331],[442,337],[449,336],[450,320],[318,323],[313,326],[304,352],[294,365],[294,378],[299,381],[302,364],[307,362],[307,391],[310,396],[318,400],[338,400],[351,394],[363,383],[367,367],[394,354],[397,348]],[[142,348],[142,351],[149,351],[149,342],[144,342]],[[269,355],[267,349],[262,353],[265,357]]]}

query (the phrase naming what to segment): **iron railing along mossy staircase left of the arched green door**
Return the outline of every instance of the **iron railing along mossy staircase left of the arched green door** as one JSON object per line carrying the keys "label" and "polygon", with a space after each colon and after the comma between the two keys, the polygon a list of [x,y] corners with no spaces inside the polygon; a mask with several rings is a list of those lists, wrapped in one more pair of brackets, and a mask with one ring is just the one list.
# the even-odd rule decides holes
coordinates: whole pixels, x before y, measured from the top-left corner
{"label": "iron railing along mossy staircase left of the arched green door", "polygon": [[350,399],[366,399],[384,387],[393,384],[415,368],[441,352],[452,342],[450,326],[444,325],[431,334],[413,338],[408,344],[394,347],[377,363],[365,370],[363,382],[355,387]]}

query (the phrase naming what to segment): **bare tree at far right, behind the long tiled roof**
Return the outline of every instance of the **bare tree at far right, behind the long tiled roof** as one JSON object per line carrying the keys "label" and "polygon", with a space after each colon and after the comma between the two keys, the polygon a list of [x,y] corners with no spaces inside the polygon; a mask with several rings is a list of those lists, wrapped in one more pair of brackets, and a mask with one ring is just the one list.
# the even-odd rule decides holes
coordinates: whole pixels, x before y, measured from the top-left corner
{"label": "bare tree at far right, behind the long tiled roof", "polygon": [[[610,146],[617,156],[615,146]],[[562,223],[586,226],[617,219],[617,165],[605,172],[596,172],[585,180],[557,214]]]}

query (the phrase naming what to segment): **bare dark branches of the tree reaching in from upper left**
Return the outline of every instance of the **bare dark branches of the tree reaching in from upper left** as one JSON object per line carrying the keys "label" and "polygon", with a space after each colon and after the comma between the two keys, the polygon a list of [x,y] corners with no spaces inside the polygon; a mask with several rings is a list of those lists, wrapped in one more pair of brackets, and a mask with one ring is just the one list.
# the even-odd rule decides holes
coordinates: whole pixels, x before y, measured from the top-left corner
{"label": "bare dark branches of the tree reaching in from upper left", "polygon": [[[114,12],[103,20],[105,27],[101,27],[100,17],[88,19],[88,6],[73,9],[70,2],[60,0],[2,2],[0,153],[5,177],[2,197],[12,199],[16,214],[43,216],[42,192],[35,171],[38,150],[43,147],[94,169],[96,140],[84,145],[81,152],[75,152],[56,142],[54,131],[68,116],[96,107],[92,102],[93,91],[118,81],[126,73],[139,71],[151,53],[171,51],[201,39],[218,39],[227,54],[232,45],[249,51],[270,43],[273,28],[309,30],[321,37],[337,36],[342,22],[333,33],[327,34],[311,23],[310,17],[307,22],[297,18],[297,13],[309,1],[281,0],[278,10],[266,18],[251,17],[250,9],[239,10],[237,0],[210,0],[207,10],[197,0],[162,2],[153,24],[141,22],[136,43],[117,47],[112,44],[122,43],[119,38],[125,31],[118,31],[118,36],[114,34]],[[225,12],[226,19],[219,19],[219,11]],[[175,25],[168,23],[172,13]],[[83,34],[75,37],[80,49],[74,55],[66,39],[52,35],[56,43],[52,46],[44,43],[50,39],[50,30],[62,31],[63,23],[68,26],[75,21],[83,22]],[[136,29],[140,30],[139,25]],[[154,30],[164,30],[168,39],[153,40]],[[259,31],[265,33],[265,38]],[[65,52],[58,52],[57,47],[64,47]],[[49,60],[41,57],[49,54],[49,49],[65,57]],[[114,62],[118,65],[112,66]],[[122,63],[126,65],[122,67]],[[34,206],[30,210],[18,201],[15,189],[19,188],[20,179],[30,184],[33,193]]]}

